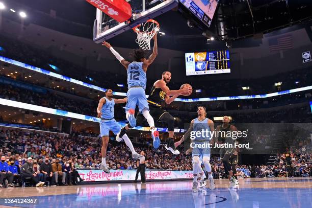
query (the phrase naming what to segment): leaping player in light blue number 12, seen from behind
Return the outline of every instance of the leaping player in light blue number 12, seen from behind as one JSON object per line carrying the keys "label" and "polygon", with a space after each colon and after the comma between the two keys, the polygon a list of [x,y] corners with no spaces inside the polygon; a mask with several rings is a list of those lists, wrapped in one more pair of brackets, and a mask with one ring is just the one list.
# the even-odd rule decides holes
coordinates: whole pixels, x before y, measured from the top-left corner
{"label": "leaping player in light blue number 12, seen from behind", "polygon": [[[104,41],[102,45],[105,45],[111,50],[114,56],[120,61],[120,63],[127,70],[127,103],[126,103],[126,119],[129,121],[128,125],[123,128],[126,131],[130,128],[134,128],[137,125],[136,119],[134,117],[136,106],[138,105],[140,113],[143,114],[144,118],[147,120],[149,127],[151,128],[151,135],[153,138],[154,147],[158,147],[160,144],[159,132],[155,130],[154,119],[149,113],[148,103],[145,96],[146,88],[146,71],[148,66],[155,60],[158,54],[157,47],[157,34],[154,35],[154,47],[153,53],[148,59],[145,58],[145,51],[143,49],[135,49],[130,54],[133,57],[133,62],[128,62],[124,60],[111,46],[110,43]],[[122,133],[122,132],[121,132]],[[123,133],[122,133],[123,134]]]}

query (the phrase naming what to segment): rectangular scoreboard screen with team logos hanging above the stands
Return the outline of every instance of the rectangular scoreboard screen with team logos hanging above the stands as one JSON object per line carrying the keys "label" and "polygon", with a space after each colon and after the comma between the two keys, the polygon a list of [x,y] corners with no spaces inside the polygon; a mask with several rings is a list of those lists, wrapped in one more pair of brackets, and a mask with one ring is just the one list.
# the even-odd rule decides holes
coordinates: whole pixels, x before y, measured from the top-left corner
{"label": "rectangular scoreboard screen with team logos hanging above the stands", "polygon": [[186,53],[185,65],[187,76],[231,72],[228,50]]}

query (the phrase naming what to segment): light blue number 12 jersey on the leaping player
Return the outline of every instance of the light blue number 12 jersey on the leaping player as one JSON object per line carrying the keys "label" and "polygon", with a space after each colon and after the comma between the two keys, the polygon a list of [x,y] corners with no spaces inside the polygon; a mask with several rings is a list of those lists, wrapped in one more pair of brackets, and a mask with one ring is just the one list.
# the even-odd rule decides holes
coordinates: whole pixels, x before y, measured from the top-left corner
{"label": "light blue number 12 jersey on the leaping player", "polygon": [[143,62],[132,62],[127,68],[128,89],[133,86],[146,88],[146,73],[142,68]]}

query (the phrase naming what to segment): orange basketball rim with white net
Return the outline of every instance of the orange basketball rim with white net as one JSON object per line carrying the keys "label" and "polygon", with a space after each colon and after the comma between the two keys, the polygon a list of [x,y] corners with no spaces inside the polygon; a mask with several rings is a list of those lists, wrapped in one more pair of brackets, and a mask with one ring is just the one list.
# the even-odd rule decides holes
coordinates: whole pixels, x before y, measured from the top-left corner
{"label": "orange basketball rim with white net", "polygon": [[150,40],[159,31],[159,24],[153,19],[149,19],[133,28],[138,35],[136,42],[143,50],[150,50]]}

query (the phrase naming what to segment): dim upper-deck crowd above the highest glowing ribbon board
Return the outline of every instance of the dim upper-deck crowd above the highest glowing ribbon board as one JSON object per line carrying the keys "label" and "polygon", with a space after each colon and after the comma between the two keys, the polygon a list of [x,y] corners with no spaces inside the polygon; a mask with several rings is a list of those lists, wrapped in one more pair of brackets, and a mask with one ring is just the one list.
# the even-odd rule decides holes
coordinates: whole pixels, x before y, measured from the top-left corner
{"label": "dim upper-deck crowd above the highest glowing ribbon board", "polygon": [[[59,74],[95,84],[103,88],[110,87],[114,91],[126,92],[127,90],[126,87],[120,88],[116,85],[112,86],[110,82],[111,80],[114,80],[115,83],[125,84],[125,74],[113,74],[105,71],[98,73],[93,70],[85,70],[83,66],[57,58],[51,55],[48,51],[42,51],[42,49],[37,49],[30,44],[15,39],[13,40],[5,36],[1,36],[0,46],[3,48],[3,50],[0,51],[0,55],[2,56],[41,67],[46,70],[51,69],[48,64],[53,64],[60,68],[57,72]],[[191,97],[223,97],[274,93],[280,90],[288,90],[312,85],[312,80],[309,79],[311,76],[312,71],[310,68],[300,68],[291,72],[280,73],[274,76],[259,79],[219,80],[218,82],[214,82],[213,85],[206,86],[202,85],[201,82],[194,82],[192,83],[193,89],[202,89],[202,93],[196,94],[194,92]],[[148,79],[147,91],[150,90],[154,81],[155,79]],[[276,82],[282,82],[282,85],[280,87],[273,87]],[[267,83],[267,85],[264,85],[263,83]],[[172,80],[172,82],[169,83],[169,87],[177,89],[181,86],[181,84],[183,83],[178,82],[177,80]],[[243,90],[243,86],[249,86],[249,90]]]}

